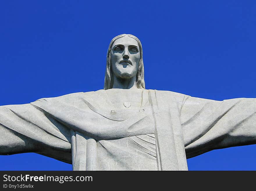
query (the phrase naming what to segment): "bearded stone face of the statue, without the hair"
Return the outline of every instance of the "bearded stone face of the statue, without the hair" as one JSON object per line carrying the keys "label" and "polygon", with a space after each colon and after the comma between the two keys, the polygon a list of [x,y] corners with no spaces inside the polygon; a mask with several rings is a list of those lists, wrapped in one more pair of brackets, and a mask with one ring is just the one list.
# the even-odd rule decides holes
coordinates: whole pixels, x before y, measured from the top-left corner
{"label": "bearded stone face of the statue, without the hair", "polygon": [[117,39],[111,48],[111,65],[115,76],[119,78],[132,78],[138,72],[140,50],[138,42],[124,36]]}

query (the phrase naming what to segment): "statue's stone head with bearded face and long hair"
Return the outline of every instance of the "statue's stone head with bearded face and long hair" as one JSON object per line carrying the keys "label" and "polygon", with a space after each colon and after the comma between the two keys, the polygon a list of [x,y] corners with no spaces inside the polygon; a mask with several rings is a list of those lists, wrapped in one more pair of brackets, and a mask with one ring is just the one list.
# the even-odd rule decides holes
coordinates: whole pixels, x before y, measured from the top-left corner
{"label": "statue's stone head with bearded face and long hair", "polygon": [[145,89],[142,46],[136,36],[122,34],[111,40],[106,59],[104,90],[113,87],[114,76],[125,79],[136,76],[137,88]]}

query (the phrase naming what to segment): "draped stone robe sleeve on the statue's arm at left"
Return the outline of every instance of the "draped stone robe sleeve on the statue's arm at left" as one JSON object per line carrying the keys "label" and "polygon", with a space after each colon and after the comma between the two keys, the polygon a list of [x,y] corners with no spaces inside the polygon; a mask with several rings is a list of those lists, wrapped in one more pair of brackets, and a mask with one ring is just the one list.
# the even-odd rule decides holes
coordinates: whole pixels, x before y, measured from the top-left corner
{"label": "draped stone robe sleeve on the statue's arm at left", "polygon": [[35,152],[71,163],[70,129],[32,104],[0,106],[0,154]]}

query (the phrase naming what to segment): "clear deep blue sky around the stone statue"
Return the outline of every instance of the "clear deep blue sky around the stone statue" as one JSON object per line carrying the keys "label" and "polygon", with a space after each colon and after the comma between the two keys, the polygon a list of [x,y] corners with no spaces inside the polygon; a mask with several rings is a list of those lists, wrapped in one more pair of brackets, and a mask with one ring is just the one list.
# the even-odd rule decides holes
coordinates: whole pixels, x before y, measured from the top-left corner
{"label": "clear deep blue sky around the stone statue", "polygon": [[[143,47],[146,89],[223,100],[256,97],[256,1],[1,1],[0,105],[103,88],[122,33]],[[256,128],[256,127],[255,127]],[[256,170],[256,145],[210,151],[189,170]],[[0,170],[71,170],[23,153]]]}

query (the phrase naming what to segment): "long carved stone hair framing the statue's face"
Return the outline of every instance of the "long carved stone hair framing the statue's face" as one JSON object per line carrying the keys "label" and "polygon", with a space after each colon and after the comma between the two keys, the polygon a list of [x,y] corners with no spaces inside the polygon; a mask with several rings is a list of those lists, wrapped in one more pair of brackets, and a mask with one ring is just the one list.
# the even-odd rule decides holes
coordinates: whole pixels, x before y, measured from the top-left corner
{"label": "long carved stone hair framing the statue's face", "polygon": [[143,66],[143,59],[142,59],[142,45],[140,40],[130,34],[122,34],[118,35],[115,38],[113,38],[109,44],[109,49],[107,52],[107,60],[106,60],[106,72],[105,72],[105,82],[104,82],[104,90],[111,89],[113,87],[113,73],[112,73],[112,63],[111,63],[111,48],[112,45],[114,44],[115,40],[122,38],[124,36],[129,36],[136,40],[139,45],[139,50],[140,50],[140,61],[139,61],[139,66],[138,66],[138,72],[136,74],[136,86],[139,89],[145,89],[145,81],[144,81],[144,66]]}

